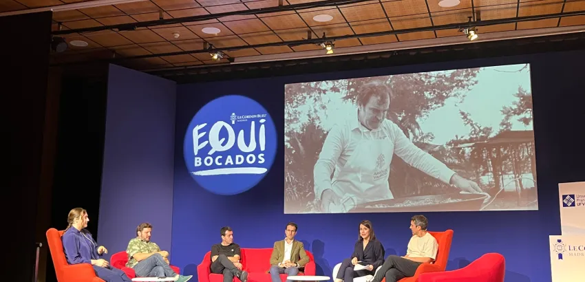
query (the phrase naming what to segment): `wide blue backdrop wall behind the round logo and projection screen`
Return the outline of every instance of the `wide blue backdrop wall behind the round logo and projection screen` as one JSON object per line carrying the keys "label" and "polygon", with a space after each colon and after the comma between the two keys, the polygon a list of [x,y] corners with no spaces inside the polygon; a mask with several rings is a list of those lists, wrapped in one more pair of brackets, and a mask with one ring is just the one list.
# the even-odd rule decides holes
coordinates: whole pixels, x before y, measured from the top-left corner
{"label": "wide blue backdrop wall behind the round logo and projection screen", "polygon": [[[284,215],[284,84],[514,63],[531,63],[540,209],[426,215],[430,230],[455,231],[449,270],[486,252],[500,252],[507,259],[506,281],[550,281],[548,236],[561,232],[557,184],[585,180],[585,151],[578,130],[585,119],[585,80],[579,76],[585,65],[582,51],[179,85],[172,263],[184,273],[196,274],[196,265],[211,245],[220,241],[220,228],[226,225],[234,228],[235,241],[242,248],[271,248],[274,241],[283,239],[288,221],[299,224],[297,239],[315,254],[319,274],[330,275],[336,263],[350,256],[362,219],[373,221],[387,254],[404,254],[410,237],[410,213]],[[245,193],[220,196],[204,190],[191,178],[182,157],[182,142],[195,113],[207,102],[228,94],[248,96],[262,104],[276,124],[279,140],[275,163],[264,180]],[[153,235],[155,241],[159,232]]]}

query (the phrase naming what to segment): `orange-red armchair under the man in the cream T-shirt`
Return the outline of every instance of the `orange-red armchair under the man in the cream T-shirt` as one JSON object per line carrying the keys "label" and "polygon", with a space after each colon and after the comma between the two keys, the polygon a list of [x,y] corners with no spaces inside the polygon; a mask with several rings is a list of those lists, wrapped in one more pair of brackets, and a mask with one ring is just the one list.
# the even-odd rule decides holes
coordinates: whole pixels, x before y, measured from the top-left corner
{"label": "orange-red armchair under the man in the cream T-shirt", "polygon": [[[427,272],[445,271],[445,268],[447,268],[449,252],[451,251],[451,241],[453,241],[453,230],[448,229],[445,232],[429,231],[429,233],[435,237],[438,243],[437,257],[434,263],[423,263],[419,265],[416,269],[416,272],[414,273],[414,276],[405,277],[400,279],[398,282],[421,282],[418,281],[418,276],[421,276],[421,274]],[[385,281],[386,279],[382,279],[382,282]]]}

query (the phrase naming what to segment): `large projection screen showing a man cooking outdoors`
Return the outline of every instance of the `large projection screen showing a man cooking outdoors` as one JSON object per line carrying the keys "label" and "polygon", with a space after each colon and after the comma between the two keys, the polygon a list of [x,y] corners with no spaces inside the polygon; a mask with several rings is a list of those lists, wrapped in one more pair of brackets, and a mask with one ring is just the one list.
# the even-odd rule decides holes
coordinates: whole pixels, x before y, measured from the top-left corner
{"label": "large projection screen showing a man cooking outdoors", "polygon": [[529,64],[284,96],[284,213],[538,210]]}

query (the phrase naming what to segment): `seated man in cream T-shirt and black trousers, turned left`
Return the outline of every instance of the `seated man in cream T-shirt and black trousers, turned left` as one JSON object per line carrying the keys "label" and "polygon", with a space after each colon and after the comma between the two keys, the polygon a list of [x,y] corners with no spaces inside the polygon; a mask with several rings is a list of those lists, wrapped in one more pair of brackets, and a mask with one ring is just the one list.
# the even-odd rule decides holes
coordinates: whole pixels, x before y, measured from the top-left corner
{"label": "seated man in cream T-shirt and black trousers, turned left", "polygon": [[396,282],[404,277],[412,277],[418,265],[432,263],[437,256],[438,243],[433,235],[427,232],[429,221],[424,215],[415,215],[410,219],[412,237],[404,257],[391,255],[376,272],[372,282]]}

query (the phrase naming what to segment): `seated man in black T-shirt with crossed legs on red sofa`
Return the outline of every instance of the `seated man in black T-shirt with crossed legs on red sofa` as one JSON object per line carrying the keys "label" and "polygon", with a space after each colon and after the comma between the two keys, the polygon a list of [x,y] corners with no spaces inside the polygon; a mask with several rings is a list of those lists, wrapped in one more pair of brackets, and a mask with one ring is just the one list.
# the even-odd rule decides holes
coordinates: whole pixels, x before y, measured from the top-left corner
{"label": "seated man in black T-shirt with crossed legs on red sofa", "polygon": [[233,230],[222,227],[222,243],[211,246],[211,272],[224,274],[224,282],[232,282],[233,276],[240,281],[248,281],[248,272],[242,270],[240,246],[233,242]]}

